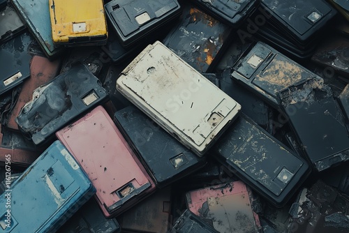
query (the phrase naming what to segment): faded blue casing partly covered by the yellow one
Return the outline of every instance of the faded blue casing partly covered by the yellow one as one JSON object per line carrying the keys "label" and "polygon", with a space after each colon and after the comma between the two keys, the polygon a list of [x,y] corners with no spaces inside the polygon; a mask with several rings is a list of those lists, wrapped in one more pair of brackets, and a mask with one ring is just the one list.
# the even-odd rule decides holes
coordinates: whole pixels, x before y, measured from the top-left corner
{"label": "faded blue casing partly covered by the yellow one", "polygon": [[11,0],[23,22],[40,43],[47,57],[54,57],[62,47],[54,45],[48,0]]}

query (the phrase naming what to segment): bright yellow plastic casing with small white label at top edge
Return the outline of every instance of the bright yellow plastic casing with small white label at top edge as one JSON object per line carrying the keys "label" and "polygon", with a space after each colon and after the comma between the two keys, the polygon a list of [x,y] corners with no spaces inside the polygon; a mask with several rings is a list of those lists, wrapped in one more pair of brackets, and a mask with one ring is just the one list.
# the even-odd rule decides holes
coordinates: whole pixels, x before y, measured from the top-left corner
{"label": "bright yellow plastic casing with small white label at top edge", "polygon": [[52,40],[61,45],[105,45],[103,0],[49,0]]}

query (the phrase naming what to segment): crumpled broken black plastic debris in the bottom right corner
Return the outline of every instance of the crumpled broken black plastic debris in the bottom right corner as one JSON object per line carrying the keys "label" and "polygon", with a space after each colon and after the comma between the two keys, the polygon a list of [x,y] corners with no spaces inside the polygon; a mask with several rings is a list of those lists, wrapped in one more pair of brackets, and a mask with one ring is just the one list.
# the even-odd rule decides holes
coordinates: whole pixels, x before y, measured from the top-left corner
{"label": "crumpled broken black plastic debris in the bottom right corner", "polygon": [[317,181],[299,193],[290,209],[287,233],[349,232],[349,197]]}

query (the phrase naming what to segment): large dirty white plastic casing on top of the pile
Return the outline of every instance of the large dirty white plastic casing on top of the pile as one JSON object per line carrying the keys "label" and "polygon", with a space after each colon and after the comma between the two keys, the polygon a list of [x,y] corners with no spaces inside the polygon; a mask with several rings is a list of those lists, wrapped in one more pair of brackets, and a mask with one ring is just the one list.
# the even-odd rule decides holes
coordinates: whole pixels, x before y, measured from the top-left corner
{"label": "large dirty white plastic casing on top of the pile", "polygon": [[158,41],[122,71],[117,90],[198,156],[214,144],[241,109]]}

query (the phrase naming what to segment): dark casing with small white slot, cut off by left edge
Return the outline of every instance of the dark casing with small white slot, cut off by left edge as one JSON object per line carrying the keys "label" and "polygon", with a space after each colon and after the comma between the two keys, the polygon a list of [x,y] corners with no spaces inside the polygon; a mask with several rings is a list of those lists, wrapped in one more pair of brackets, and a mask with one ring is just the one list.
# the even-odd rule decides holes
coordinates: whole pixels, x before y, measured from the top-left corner
{"label": "dark casing with small white slot, cut off by left edge", "polygon": [[26,32],[0,45],[0,95],[30,76],[28,47],[33,41]]}

